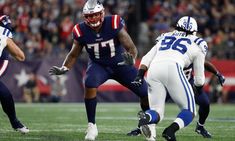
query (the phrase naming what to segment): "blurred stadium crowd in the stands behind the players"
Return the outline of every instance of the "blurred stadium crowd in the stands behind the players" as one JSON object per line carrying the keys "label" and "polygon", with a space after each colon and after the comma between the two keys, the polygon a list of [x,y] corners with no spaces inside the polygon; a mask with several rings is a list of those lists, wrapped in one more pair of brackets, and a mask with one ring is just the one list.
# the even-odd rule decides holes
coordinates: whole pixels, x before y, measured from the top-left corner
{"label": "blurred stadium crowd in the stands behind the players", "polygon": [[[27,60],[67,54],[71,30],[83,20],[86,0],[1,0],[0,13],[9,15],[15,40]],[[136,43],[139,57],[156,36],[172,30],[182,15],[196,18],[199,34],[210,47],[208,58],[235,59],[234,0],[101,0],[106,15],[120,14]]]}

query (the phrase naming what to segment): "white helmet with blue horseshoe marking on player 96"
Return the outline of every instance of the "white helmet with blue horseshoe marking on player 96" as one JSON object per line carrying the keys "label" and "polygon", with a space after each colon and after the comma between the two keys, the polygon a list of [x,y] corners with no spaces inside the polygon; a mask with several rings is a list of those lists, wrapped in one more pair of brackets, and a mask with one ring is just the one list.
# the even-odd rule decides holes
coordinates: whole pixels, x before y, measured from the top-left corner
{"label": "white helmet with blue horseshoe marking on player 96", "polygon": [[180,18],[176,24],[176,27],[184,29],[189,32],[197,32],[197,22],[193,17],[184,16]]}

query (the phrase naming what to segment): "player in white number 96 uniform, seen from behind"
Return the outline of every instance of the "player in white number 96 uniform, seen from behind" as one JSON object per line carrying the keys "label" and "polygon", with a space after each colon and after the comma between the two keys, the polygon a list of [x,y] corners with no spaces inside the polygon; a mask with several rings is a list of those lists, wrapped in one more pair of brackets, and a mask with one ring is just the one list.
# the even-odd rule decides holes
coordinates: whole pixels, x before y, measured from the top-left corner
{"label": "player in white number 96 uniform, seen from behind", "polygon": [[[182,17],[176,29],[159,36],[156,45],[141,60],[137,77],[148,70],[150,110],[139,113],[139,126],[149,141],[156,139],[155,125],[163,119],[167,92],[181,111],[163,131],[162,136],[166,140],[175,141],[175,132],[189,125],[196,115],[194,91],[183,68],[193,64],[193,87],[200,93],[205,82],[204,62],[208,47],[196,36],[197,30],[194,18]],[[133,83],[138,84],[138,81]]]}

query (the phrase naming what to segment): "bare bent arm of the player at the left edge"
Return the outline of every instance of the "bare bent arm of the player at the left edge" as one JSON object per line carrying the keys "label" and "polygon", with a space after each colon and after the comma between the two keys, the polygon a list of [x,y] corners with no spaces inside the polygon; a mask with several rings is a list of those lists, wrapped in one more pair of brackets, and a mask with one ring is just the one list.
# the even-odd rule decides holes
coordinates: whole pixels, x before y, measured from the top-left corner
{"label": "bare bent arm of the player at the left edge", "polygon": [[11,54],[11,56],[13,56],[18,61],[24,61],[25,60],[24,52],[15,44],[15,42],[11,38],[8,38],[6,42],[7,42],[7,49]]}

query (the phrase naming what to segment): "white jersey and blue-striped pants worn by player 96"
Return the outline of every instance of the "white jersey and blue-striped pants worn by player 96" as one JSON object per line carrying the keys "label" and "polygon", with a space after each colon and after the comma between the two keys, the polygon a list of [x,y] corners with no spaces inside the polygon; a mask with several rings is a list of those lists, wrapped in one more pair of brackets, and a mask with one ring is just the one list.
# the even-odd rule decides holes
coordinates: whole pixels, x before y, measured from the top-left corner
{"label": "white jersey and blue-striped pants worn by player 96", "polygon": [[159,36],[156,45],[142,58],[141,64],[148,67],[150,108],[159,113],[160,120],[164,116],[167,91],[180,109],[196,114],[194,93],[183,68],[193,63],[194,83],[202,86],[207,49],[203,39],[175,30]]}

